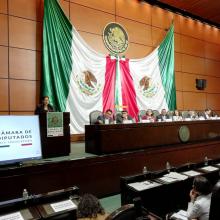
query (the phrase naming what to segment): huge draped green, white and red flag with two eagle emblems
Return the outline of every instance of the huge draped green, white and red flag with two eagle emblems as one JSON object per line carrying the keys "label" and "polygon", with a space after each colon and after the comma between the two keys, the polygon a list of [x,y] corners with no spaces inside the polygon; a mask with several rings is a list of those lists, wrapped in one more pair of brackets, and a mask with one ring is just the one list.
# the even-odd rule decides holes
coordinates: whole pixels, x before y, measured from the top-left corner
{"label": "huge draped green, white and red flag with two eagle emblems", "polygon": [[176,107],[174,37],[171,26],[150,55],[127,59],[90,48],[56,0],[44,1],[42,95],[57,111],[70,112],[71,133],[84,133],[89,113]]}

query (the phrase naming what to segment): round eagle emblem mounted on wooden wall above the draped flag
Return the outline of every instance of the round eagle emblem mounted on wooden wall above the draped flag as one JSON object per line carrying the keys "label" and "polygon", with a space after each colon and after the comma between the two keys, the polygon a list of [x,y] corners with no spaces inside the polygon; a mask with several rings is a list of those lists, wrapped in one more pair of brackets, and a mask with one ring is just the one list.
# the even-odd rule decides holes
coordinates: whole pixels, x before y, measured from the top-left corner
{"label": "round eagle emblem mounted on wooden wall above the draped flag", "polygon": [[103,31],[103,41],[106,48],[113,54],[123,53],[128,48],[128,35],[118,23],[109,23]]}

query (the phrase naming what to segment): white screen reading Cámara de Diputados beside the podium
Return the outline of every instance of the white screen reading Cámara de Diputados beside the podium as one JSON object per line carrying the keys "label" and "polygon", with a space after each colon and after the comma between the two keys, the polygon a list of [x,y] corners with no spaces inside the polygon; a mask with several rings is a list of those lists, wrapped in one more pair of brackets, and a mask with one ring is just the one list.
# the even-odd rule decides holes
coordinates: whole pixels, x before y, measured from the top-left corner
{"label": "white screen reading C\u00e1mara de Diputados beside the podium", "polygon": [[41,157],[39,116],[0,116],[0,165]]}

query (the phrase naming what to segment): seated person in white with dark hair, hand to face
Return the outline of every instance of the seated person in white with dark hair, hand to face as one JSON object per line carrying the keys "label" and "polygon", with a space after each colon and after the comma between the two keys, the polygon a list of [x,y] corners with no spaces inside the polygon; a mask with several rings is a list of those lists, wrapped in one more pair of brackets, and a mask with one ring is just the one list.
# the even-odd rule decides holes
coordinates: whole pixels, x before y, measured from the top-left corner
{"label": "seated person in white with dark hair, hand to face", "polygon": [[187,209],[187,217],[189,220],[209,219],[211,191],[211,184],[205,177],[195,177],[193,181],[193,188],[189,194],[190,202]]}

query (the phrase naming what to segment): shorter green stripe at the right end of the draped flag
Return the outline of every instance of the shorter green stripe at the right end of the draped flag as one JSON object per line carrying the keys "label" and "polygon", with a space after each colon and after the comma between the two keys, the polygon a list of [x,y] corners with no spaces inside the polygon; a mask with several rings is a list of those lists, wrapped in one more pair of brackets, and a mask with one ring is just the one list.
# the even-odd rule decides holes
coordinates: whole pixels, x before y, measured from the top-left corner
{"label": "shorter green stripe at the right end of the draped flag", "polygon": [[172,25],[167,36],[158,49],[159,68],[165,98],[169,110],[176,109],[176,88],[174,75],[174,26]]}

